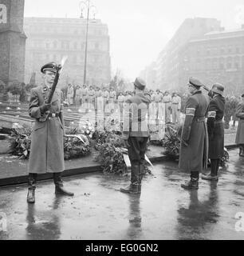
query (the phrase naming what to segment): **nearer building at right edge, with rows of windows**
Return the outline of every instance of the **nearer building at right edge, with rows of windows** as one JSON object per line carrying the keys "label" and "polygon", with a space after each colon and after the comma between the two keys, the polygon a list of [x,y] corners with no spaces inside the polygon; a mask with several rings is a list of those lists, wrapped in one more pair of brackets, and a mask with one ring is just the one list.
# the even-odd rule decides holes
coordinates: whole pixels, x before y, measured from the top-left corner
{"label": "nearer building at right edge, with rows of windows", "polygon": [[179,85],[189,76],[200,78],[211,87],[220,82],[226,94],[241,93],[244,88],[244,27],[217,31],[191,40],[180,52]]}

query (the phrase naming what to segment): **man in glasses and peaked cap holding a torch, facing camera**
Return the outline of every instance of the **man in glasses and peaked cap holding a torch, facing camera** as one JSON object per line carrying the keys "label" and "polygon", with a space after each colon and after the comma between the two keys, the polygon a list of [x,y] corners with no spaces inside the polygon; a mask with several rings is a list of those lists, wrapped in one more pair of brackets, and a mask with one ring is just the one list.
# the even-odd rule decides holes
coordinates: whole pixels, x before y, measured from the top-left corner
{"label": "man in glasses and peaked cap holding a torch, facing camera", "polygon": [[[56,194],[73,195],[64,189],[61,172],[65,169],[64,161],[64,117],[61,94],[55,90],[50,104],[46,103],[49,91],[57,73],[57,64],[50,62],[41,67],[44,84],[31,90],[29,114],[35,118],[33,127],[28,177],[27,202],[35,202],[37,174],[53,173]],[[45,114],[46,120],[41,120]]]}

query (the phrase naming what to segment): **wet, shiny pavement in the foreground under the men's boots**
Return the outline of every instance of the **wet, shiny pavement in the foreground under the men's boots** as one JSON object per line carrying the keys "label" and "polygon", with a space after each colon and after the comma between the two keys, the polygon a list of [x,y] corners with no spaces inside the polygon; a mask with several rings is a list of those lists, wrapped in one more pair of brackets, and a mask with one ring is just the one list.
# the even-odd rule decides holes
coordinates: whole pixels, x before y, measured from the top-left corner
{"label": "wet, shiny pavement in the foreground under the men's boots", "polygon": [[156,164],[140,195],[119,191],[129,177],[100,173],[64,178],[73,198],[56,197],[52,182],[39,182],[34,205],[26,203],[26,186],[2,187],[7,226],[0,239],[244,240],[244,225],[235,230],[236,214],[244,213],[243,166],[238,150],[230,151],[218,183],[200,179],[198,191],[180,187],[189,175],[177,162]]}

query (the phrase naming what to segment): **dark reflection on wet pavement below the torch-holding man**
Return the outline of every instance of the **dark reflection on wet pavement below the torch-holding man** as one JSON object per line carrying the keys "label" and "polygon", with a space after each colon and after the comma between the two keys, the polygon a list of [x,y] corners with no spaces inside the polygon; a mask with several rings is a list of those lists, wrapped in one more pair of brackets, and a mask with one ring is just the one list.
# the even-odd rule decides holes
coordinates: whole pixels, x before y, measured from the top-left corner
{"label": "dark reflection on wet pavement below the torch-holding man", "polygon": [[61,226],[58,213],[54,210],[58,209],[61,197],[53,199],[53,210],[49,210],[49,214],[45,215],[43,220],[40,210],[37,210],[33,204],[28,204],[26,216],[26,239],[28,240],[57,240],[60,239]]}

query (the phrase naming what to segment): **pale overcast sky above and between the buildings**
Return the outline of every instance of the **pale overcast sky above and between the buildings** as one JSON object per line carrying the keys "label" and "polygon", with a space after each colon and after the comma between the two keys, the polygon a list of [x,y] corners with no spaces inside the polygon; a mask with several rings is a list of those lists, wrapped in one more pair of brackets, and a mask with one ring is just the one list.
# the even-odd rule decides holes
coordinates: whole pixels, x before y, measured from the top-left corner
{"label": "pale overcast sky above and between the buildings", "polygon": [[[79,0],[26,0],[26,17],[79,18]],[[108,24],[112,71],[135,78],[155,60],[185,18],[218,18],[226,29],[244,23],[244,0],[92,0]]]}

